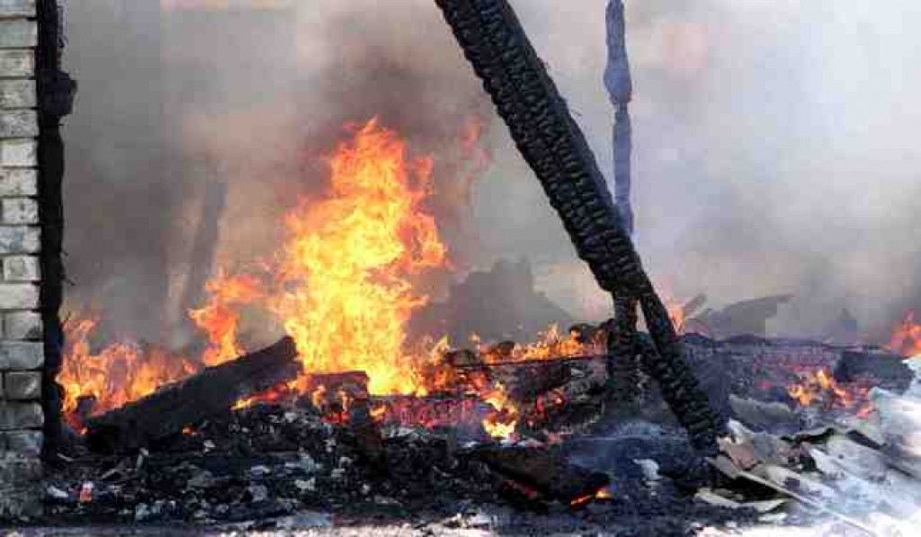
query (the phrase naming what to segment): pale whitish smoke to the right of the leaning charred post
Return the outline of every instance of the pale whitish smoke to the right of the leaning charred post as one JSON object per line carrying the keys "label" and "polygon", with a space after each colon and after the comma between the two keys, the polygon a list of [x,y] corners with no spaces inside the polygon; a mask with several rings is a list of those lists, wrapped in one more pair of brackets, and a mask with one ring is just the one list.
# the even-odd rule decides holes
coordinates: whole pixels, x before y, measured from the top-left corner
{"label": "pale whitish smoke to the right of the leaning charred post", "polygon": [[[513,4],[612,173],[605,2]],[[627,18],[636,241],[663,291],[714,304],[793,293],[773,327],[791,335],[822,336],[847,308],[879,340],[921,307],[921,7],[644,0],[627,3]],[[570,252],[548,259],[522,232],[549,216],[517,206],[519,233],[496,233],[496,250],[528,244],[553,268],[548,292],[595,314],[604,301]]]}

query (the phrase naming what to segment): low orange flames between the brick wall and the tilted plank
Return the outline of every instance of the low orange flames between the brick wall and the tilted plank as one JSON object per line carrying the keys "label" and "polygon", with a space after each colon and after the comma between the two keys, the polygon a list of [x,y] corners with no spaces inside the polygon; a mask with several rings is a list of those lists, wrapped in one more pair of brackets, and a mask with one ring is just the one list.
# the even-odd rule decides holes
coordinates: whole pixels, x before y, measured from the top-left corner
{"label": "low orange flames between the brick wall and the tilted plank", "polygon": [[95,398],[89,414],[99,414],[156,391],[170,382],[183,379],[195,366],[179,356],[134,342],[119,342],[92,352],[89,336],[96,328],[92,319],[64,323],[64,366],[58,382],[64,387],[64,415],[80,430],[83,417],[77,415],[80,399]]}

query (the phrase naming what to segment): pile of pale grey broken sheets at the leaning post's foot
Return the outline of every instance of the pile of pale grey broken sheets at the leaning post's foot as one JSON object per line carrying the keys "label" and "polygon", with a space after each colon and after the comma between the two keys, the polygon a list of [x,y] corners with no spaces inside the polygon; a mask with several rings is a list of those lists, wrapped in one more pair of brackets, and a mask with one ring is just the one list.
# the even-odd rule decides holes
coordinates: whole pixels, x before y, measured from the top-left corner
{"label": "pile of pale grey broken sheets at the leaning post's foot", "polygon": [[[921,356],[905,363],[921,371]],[[819,524],[816,534],[842,534],[843,526],[860,535],[915,534],[921,525],[918,379],[903,394],[869,391],[873,411],[865,419],[850,416],[793,434],[755,432],[730,421],[731,434],[720,440],[721,453],[711,461],[729,481],[697,497],[716,506],[756,508],[764,523]],[[750,422],[763,424],[765,406],[734,405]],[[783,422],[776,423],[789,425]]]}

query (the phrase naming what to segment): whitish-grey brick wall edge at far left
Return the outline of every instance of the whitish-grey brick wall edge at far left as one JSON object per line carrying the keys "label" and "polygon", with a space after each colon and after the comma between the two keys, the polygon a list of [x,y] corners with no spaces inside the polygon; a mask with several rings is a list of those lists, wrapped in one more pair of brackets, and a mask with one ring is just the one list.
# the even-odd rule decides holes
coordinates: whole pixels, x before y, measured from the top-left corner
{"label": "whitish-grey brick wall edge at far left", "polygon": [[0,519],[41,506],[35,0],[0,0]]}

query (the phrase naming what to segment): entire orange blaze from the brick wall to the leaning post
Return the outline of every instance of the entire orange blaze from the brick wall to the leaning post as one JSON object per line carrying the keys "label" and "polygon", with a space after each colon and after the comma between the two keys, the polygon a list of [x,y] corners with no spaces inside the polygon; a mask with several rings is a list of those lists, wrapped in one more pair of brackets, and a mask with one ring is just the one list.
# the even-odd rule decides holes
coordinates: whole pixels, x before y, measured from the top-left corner
{"label": "entire orange blaze from the brick wall to the leaning post", "polygon": [[[472,150],[481,126],[471,123],[468,128],[463,143]],[[61,376],[66,410],[76,411],[77,398],[87,394],[99,398],[97,412],[116,408],[202,365],[244,354],[239,325],[243,309],[250,308],[271,313],[285,327],[297,344],[303,370],[296,381],[241,399],[234,409],[298,394],[309,396],[331,419],[347,420],[356,397],[349,387],[364,385],[352,380],[367,375],[371,395],[453,390],[464,403],[451,412],[464,419],[475,416],[474,424],[483,416],[476,405],[489,405],[492,410],[483,420],[487,432],[495,438],[512,436],[520,413],[501,383],[475,373],[461,382],[445,357],[446,339],[425,352],[411,349],[407,341],[408,321],[428,300],[417,284],[449,265],[435,217],[426,207],[433,193],[432,158],[414,158],[397,134],[372,120],[357,127],[327,164],[327,192],[300,200],[286,213],[286,239],[277,259],[263,262],[258,275],[219,271],[206,284],[204,306],[189,312],[208,341],[199,363],[142,352],[134,344],[114,344],[91,355],[86,339],[93,324],[81,324],[70,336],[76,343],[67,350]],[[579,356],[595,353],[597,345],[553,326],[536,344],[479,350],[484,361],[497,362]],[[122,370],[124,374],[113,375]],[[338,384],[319,383],[321,378]],[[378,419],[393,412],[426,413],[410,403],[391,406],[372,412]]]}

